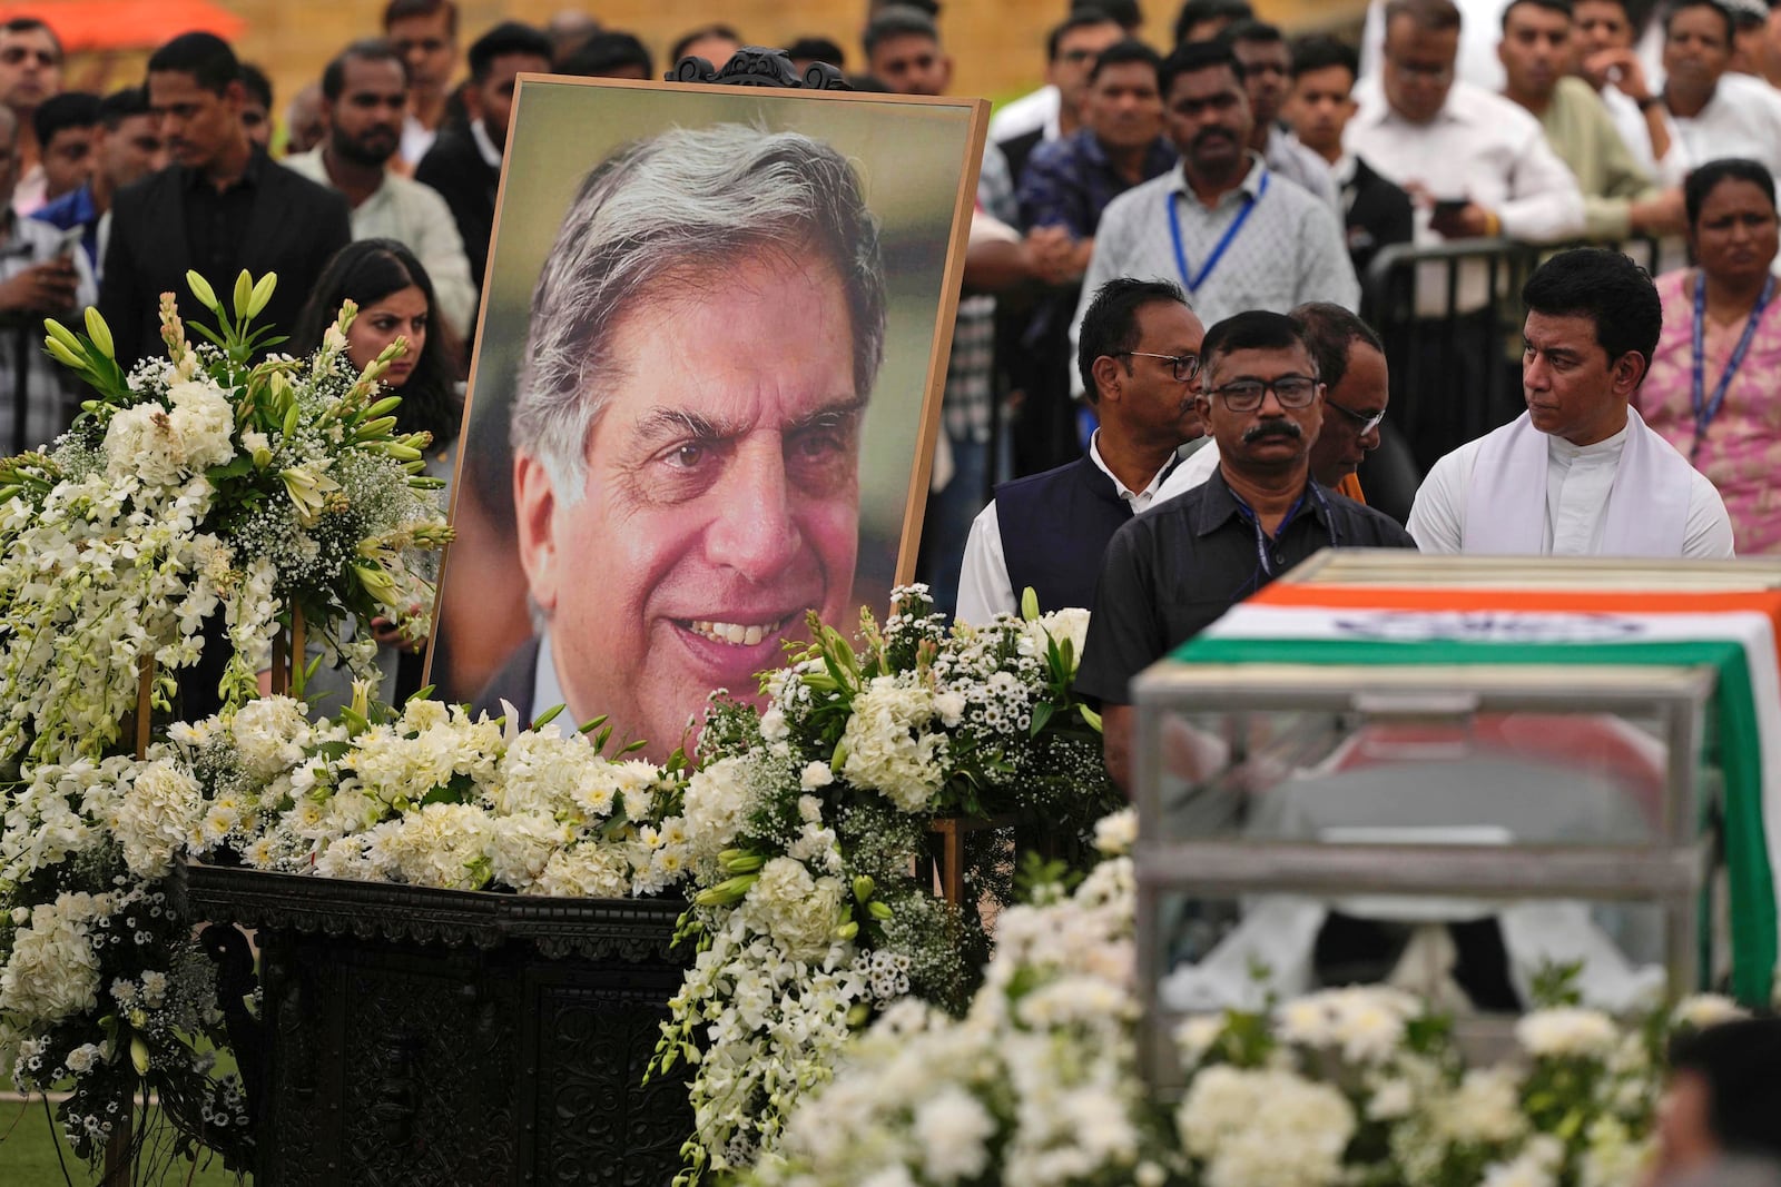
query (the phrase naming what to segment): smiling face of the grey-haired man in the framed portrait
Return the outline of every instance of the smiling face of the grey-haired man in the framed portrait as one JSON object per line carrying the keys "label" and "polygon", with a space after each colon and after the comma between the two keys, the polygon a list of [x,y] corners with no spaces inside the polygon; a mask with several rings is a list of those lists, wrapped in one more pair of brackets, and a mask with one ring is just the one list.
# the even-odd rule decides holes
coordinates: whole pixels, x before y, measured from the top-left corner
{"label": "smiling face of the grey-haired man in the framed portrait", "polygon": [[753,694],[809,610],[846,621],[867,393],[846,292],[814,249],[670,276],[627,304],[582,489],[550,491],[525,456],[515,489],[570,710],[611,714],[661,758],[711,689]]}

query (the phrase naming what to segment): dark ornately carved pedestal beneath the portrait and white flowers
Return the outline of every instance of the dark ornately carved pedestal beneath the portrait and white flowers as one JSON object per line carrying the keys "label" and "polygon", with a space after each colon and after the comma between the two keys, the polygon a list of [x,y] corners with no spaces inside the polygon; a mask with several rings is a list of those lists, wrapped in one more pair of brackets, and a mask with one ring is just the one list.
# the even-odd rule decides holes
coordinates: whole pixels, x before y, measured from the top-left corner
{"label": "dark ornately carved pedestal beneath the portrait and white flowers", "polygon": [[679,1169],[686,1084],[639,1087],[680,984],[679,900],[216,867],[191,867],[187,893],[260,950],[260,1018],[230,1020],[260,1187],[659,1187]]}

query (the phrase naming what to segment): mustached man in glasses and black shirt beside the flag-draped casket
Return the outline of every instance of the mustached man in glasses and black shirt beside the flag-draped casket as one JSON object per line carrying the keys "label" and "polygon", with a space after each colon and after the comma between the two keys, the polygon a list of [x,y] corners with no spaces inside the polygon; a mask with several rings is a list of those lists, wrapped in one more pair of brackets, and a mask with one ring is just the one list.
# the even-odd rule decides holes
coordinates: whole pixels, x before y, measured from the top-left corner
{"label": "mustached man in glasses and black shirt beside the flag-draped casket", "polygon": [[1248,311],[1200,343],[1197,408],[1218,472],[1118,529],[1076,690],[1101,707],[1108,774],[1131,787],[1131,678],[1322,548],[1414,548],[1389,516],[1311,477],[1323,384],[1291,317]]}

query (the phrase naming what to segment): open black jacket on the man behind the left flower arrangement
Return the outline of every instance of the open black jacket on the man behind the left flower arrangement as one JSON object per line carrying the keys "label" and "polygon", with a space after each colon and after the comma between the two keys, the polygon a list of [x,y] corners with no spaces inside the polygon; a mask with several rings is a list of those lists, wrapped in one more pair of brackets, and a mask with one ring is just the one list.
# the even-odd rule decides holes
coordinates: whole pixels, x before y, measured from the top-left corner
{"label": "open black jacket on the man behind the left flower arrangement", "polygon": [[329,256],[353,240],[346,198],[297,176],[258,148],[244,183],[253,190],[251,212],[239,242],[223,253],[223,274],[216,274],[217,267],[199,267],[187,235],[187,194],[208,182],[185,166],[167,166],[118,190],[100,313],[110,326],[118,361],[125,368],[160,354],[160,294],[178,295],[183,320],[198,319],[207,326],[216,320],[192,297],[185,283],[187,269],[210,281],[232,313],[230,294],[242,269],[255,279],[278,272],[278,288],[255,324],[289,335]]}

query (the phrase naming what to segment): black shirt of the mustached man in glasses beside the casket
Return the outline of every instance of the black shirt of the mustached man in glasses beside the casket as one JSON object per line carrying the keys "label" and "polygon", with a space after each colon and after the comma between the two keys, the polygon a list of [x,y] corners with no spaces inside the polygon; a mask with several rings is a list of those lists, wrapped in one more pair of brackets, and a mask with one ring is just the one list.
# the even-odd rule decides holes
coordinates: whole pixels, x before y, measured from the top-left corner
{"label": "black shirt of the mustached man in glasses beside the casket", "polygon": [[1133,676],[1322,548],[1414,546],[1391,516],[1314,482],[1266,539],[1215,472],[1108,541],[1076,690],[1129,705]]}

